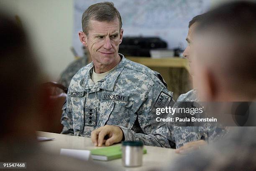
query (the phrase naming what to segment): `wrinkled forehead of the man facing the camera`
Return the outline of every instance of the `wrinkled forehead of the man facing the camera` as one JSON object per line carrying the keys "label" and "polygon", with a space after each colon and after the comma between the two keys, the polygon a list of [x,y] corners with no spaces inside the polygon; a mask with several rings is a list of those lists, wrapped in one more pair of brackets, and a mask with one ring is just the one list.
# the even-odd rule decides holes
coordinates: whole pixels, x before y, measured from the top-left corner
{"label": "wrinkled forehead of the man facing the camera", "polygon": [[92,19],[89,22],[89,34],[113,34],[119,31],[120,28],[118,19],[113,21],[97,21]]}

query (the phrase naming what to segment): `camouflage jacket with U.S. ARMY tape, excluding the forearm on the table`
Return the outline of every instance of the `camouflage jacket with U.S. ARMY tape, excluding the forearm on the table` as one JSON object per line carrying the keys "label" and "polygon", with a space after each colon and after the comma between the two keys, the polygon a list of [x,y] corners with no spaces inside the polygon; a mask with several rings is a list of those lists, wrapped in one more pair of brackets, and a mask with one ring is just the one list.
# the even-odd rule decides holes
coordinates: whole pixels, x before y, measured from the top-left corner
{"label": "camouflage jacket with U.S. ARMY tape, excluding the forearm on the table", "polygon": [[159,73],[119,55],[117,67],[96,84],[91,79],[93,63],[74,75],[63,107],[61,134],[90,137],[91,131],[106,124],[143,134],[157,128],[156,108],[172,106],[173,93]]}

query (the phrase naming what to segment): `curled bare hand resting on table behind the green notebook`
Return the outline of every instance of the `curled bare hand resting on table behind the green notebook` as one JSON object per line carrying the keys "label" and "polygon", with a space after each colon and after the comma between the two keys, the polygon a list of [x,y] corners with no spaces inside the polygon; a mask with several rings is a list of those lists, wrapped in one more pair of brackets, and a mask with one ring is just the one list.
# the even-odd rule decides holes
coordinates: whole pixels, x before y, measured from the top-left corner
{"label": "curled bare hand resting on table behind the green notebook", "polygon": [[[104,139],[108,136],[108,139]],[[92,143],[95,146],[110,146],[114,143],[119,143],[123,139],[123,131],[118,126],[105,125],[95,129],[91,133]]]}

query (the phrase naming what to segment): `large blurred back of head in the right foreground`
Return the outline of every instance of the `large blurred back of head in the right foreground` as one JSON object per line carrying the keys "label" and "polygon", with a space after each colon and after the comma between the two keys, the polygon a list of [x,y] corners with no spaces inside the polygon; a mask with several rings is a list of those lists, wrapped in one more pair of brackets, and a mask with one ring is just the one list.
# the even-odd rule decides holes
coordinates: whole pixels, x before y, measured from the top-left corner
{"label": "large blurred back of head in the right foreground", "polygon": [[210,10],[195,37],[202,52],[195,56],[218,74],[220,80],[214,81],[255,98],[256,2],[230,2]]}

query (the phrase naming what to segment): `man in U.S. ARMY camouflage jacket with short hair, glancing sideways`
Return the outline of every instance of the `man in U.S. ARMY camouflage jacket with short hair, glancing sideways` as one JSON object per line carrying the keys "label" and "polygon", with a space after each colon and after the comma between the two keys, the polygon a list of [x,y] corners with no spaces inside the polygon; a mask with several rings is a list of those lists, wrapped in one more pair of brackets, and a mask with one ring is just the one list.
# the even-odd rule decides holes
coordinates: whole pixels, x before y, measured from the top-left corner
{"label": "man in U.S. ARMY camouflage jacket with short hair, glancing sideways", "polygon": [[156,108],[173,106],[173,93],[166,89],[159,73],[118,53],[122,20],[112,2],[88,7],[82,15],[82,27],[79,38],[92,63],[72,78],[61,116],[61,134],[90,137],[91,131],[104,125],[151,134],[158,125]]}

